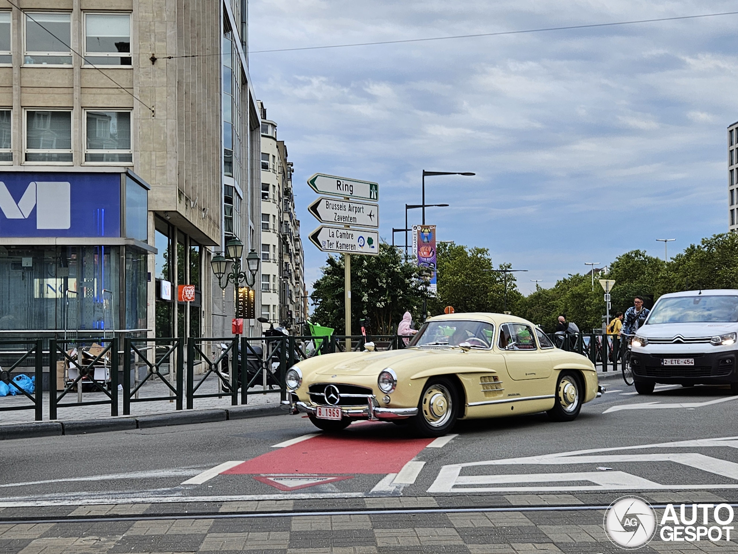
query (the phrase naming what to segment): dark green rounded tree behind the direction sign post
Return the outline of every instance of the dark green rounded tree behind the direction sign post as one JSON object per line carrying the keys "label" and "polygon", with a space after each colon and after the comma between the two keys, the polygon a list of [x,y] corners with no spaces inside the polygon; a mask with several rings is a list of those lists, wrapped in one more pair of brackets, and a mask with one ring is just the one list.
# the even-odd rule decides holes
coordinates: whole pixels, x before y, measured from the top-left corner
{"label": "dark green rounded tree behind the direction sign post", "polygon": [[[342,334],[345,321],[344,258],[328,256],[322,275],[313,285],[316,304],[313,321]],[[351,256],[351,329],[359,334],[359,320],[368,318],[376,335],[395,332],[406,311],[418,321],[427,286],[421,270],[404,261],[399,250],[379,244],[378,256]]]}

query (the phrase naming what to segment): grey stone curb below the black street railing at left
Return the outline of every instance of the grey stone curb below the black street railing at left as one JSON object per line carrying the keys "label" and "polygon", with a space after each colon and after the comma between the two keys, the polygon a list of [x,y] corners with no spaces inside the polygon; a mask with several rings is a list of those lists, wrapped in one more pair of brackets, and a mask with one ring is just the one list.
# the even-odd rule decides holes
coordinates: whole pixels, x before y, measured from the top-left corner
{"label": "grey stone curb below the black street railing at left", "polygon": [[195,425],[227,420],[245,420],[250,417],[266,417],[287,414],[286,408],[274,406],[235,406],[229,409],[178,411],[173,414],[154,414],[141,417],[111,417],[105,420],[37,421],[34,423],[13,423],[0,425],[0,441],[13,439],[32,439],[36,437],[60,437],[107,433],[108,431],[131,431],[170,425]]}

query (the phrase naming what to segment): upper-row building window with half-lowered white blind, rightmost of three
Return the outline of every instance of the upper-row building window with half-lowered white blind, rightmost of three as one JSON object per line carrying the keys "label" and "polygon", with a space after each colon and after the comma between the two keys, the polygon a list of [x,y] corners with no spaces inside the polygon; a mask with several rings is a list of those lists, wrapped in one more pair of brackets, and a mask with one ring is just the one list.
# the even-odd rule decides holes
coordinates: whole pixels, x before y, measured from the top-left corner
{"label": "upper-row building window with half-lowered white blind, rightmost of three", "polygon": [[131,14],[85,14],[85,63],[131,66]]}

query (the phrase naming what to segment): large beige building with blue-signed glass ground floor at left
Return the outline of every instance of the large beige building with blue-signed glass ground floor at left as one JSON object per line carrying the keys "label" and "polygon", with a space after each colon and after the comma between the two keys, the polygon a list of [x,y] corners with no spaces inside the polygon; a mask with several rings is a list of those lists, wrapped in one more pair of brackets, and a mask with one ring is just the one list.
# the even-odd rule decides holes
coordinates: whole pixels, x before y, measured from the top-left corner
{"label": "large beige building with blue-signed glass ground floor at left", "polygon": [[0,0],[0,329],[226,327],[210,257],[259,239],[246,13]]}

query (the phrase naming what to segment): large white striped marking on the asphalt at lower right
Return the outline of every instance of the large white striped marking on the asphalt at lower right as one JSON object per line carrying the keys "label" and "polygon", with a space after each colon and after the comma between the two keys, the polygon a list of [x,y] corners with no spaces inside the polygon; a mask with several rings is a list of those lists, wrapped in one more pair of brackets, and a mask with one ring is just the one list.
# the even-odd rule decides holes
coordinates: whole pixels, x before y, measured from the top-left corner
{"label": "large white striped marking on the asphalt at lower right", "polygon": [[[545,454],[543,456],[526,456],[522,458],[493,459],[483,462],[444,465],[435,482],[428,489],[429,493],[469,493],[469,492],[512,492],[512,491],[572,491],[572,490],[704,490],[704,489],[738,489],[738,463],[726,459],[714,458],[697,452],[662,452],[658,454],[604,454],[606,452],[641,450],[646,448],[705,448],[730,447],[738,448],[738,437],[715,439],[698,439],[678,442],[663,442],[658,445],[635,445],[627,447],[595,448],[591,450]],[[732,482],[714,483],[710,485],[663,485],[658,482],[632,475],[625,471],[578,472],[578,473],[514,473],[461,476],[464,468],[478,465],[576,465],[613,462],[675,462],[699,471],[713,473],[731,479]],[[589,482],[587,485],[571,485],[572,482]],[[552,483],[551,486],[540,483]],[[558,483],[553,485],[553,483]],[[477,486],[470,486],[477,485]],[[479,485],[495,485],[485,487]]]}

